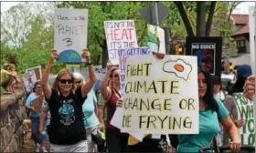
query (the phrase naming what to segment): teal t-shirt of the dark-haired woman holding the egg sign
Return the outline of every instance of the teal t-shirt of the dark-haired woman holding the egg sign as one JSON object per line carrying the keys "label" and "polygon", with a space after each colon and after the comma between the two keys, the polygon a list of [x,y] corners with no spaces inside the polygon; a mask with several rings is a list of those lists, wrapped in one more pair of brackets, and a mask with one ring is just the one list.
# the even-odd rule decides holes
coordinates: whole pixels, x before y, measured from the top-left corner
{"label": "teal t-shirt of the dark-haired woman holding the egg sign", "polygon": [[178,135],[179,144],[177,152],[198,152],[200,148],[209,147],[214,135],[219,134],[219,119],[229,116],[229,111],[223,103],[216,99],[219,105],[219,113],[212,110],[199,111],[199,134]]}

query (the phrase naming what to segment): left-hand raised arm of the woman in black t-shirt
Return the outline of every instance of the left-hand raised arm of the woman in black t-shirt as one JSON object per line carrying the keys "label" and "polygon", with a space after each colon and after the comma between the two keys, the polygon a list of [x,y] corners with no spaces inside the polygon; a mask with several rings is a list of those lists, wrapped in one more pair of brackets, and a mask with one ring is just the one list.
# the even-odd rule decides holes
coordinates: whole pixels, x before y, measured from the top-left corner
{"label": "left-hand raised arm of the woman in black t-shirt", "polygon": [[51,66],[53,65],[54,59],[58,58],[59,55],[57,53],[57,50],[53,49],[50,54],[50,58],[48,60],[48,65],[46,66],[46,69],[43,73],[42,79],[41,79],[41,85],[44,90],[45,97],[49,99],[51,96],[51,88],[48,85],[48,75],[50,73]]}

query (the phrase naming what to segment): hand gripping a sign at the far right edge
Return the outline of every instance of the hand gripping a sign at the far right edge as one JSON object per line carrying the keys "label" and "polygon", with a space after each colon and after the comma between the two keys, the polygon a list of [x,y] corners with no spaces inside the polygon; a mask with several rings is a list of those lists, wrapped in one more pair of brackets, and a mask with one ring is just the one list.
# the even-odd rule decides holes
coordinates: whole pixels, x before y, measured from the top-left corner
{"label": "hand gripping a sign at the far right edge", "polygon": [[252,100],[255,95],[255,76],[249,76],[243,87],[244,96]]}

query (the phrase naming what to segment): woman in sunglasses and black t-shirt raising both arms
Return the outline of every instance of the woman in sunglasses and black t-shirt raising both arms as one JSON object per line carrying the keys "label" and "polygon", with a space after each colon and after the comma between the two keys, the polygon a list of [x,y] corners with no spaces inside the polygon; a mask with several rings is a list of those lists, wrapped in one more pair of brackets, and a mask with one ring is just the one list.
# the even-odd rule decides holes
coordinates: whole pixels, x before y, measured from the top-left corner
{"label": "woman in sunglasses and black t-shirt raising both arms", "polygon": [[58,57],[57,51],[52,50],[41,81],[51,114],[48,128],[50,150],[52,152],[85,152],[86,137],[82,105],[96,80],[90,52],[83,49],[81,55],[88,62],[89,80],[78,88],[76,88],[73,74],[67,68],[59,71],[53,87],[49,87],[48,75],[54,59]]}

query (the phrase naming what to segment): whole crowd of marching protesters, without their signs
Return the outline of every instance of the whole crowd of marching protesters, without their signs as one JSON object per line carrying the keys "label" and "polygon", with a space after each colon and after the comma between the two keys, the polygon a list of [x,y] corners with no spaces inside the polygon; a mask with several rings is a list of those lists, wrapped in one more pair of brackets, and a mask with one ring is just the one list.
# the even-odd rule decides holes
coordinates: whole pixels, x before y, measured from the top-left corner
{"label": "whole crowd of marching protesters, without their signs", "polygon": [[[63,68],[50,87],[48,76],[58,57],[57,51],[52,50],[42,79],[27,97],[26,108],[30,111],[37,152],[163,152],[170,146],[176,148],[176,152],[198,152],[199,148],[209,147],[215,136],[219,137],[219,145],[240,150],[239,128],[244,125],[244,119],[238,117],[232,94],[244,92],[245,97],[253,99],[255,76],[251,76],[251,66],[238,67],[237,79],[229,92],[222,87],[219,76],[212,76],[204,66],[197,66],[199,133],[161,135],[160,138],[146,135],[140,142],[111,124],[116,107],[123,106],[118,66],[108,61],[99,94],[95,94],[96,76],[87,49],[81,57],[87,61],[89,78]],[[5,74],[16,78],[10,72]],[[39,101],[40,109],[33,104],[35,100]],[[46,142],[50,144],[49,150]]]}

